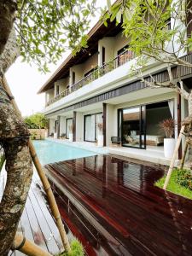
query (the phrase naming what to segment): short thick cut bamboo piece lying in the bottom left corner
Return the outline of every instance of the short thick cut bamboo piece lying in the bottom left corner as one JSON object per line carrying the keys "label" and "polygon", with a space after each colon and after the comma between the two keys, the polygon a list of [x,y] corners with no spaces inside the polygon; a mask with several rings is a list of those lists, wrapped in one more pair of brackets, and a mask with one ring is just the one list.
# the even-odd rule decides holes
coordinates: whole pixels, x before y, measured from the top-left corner
{"label": "short thick cut bamboo piece lying in the bottom left corner", "polygon": [[21,233],[16,233],[12,250],[18,250],[28,256],[51,256],[50,253],[45,252],[41,247],[24,238]]}

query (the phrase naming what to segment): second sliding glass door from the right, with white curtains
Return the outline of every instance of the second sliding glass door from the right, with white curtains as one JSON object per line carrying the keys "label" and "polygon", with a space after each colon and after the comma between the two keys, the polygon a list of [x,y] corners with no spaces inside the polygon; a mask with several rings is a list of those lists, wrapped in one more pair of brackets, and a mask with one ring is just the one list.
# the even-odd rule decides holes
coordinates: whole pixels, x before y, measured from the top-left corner
{"label": "second sliding glass door from the right, with white curtains", "polygon": [[102,123],[102,113],[93,113],[84,116],[84,141],[95,143],[98,139],[98,124]]}

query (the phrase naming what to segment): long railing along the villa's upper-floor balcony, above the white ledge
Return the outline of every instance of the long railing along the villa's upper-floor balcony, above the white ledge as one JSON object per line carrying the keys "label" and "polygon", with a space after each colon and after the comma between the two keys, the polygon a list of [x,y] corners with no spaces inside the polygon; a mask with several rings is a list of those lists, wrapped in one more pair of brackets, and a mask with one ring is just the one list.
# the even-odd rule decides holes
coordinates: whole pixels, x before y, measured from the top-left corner
{"label": "long railing along the villa's upper-floor balcony, above the white ledge", "polygon": [[90,84],[91,82],[95,81],[96,79],[102,77],[106,73],[109,73],[113,69],[120,67],[121,65],[125,64],[128,61],[131,61],[135,58],[134,53],[131,50],[125,50],[120,55],[118,55],[116,58],[114,58],[112,61],[108,61],[108,63],[105,63],[102,67],[97,67],[96,70],[92,73],[89,73],[84,79],[81,79],[79,82],[73,84],[71,88],[68,88],[67,90],[64,90],[59,94],[58,96],[55,96],[55,98],[49,100],[47,102],[46,107],[50,104],[59,101],[64,96],[69,95],[75,90],[79,90],[86,84]]}

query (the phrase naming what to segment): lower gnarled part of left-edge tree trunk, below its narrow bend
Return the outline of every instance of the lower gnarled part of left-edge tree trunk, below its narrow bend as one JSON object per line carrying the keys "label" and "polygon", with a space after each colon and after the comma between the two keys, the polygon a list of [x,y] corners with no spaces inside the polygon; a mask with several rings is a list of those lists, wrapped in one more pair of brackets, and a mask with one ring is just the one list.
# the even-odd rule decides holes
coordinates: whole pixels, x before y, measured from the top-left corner
{"label": "lower gnarled part of left-edge tree trunk, below its narrow bend", "polygon": [[0,143],[6,157],[7,183],[0,204],[0,255],[7,255],[15,237],[32,180],[29,132],[0,86]]}

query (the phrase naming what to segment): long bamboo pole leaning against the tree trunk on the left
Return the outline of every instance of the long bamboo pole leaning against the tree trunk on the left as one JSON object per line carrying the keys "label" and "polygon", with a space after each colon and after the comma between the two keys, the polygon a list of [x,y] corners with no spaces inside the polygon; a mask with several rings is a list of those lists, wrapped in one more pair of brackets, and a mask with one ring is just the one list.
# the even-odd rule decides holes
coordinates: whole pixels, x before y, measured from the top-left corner
{"label": "long bamboo pole leaning against the tree trunk on the left", "polygon": [[[17,107],[17,104],[15,102],[15,98],[12,95],[12,92],[11,92],[11,90],[9,88],[9,84],[8,84],[7,80],[5,79],[5,77],[3,77],[3,87],[4,87],[4,90],[7,91],[8,95],[9,95],[9,98],[10,98],[10,101],[12,102],[16,112],[21,117],[20,110]],[[60,236],[61,236],[61,241],[63,243],[63,247],[65,248],[65,250],[67,252],[70,252],[71,251],[71,247],[70,247],[70,244],[69,244],[69,241],[68,241],[68,237],[67,237],[66,231],[64,229],[64,225],[63,225],[62,220],[61,220],[61,214],[60,214],[59,209],[57,207],[57,204],[56,204],[55,197],[53,195],[52,189],[50,188],[50,184],[49,184],[48,178],[46,177],[46,175],[44,173],[44,169],[41,166],[40,161],[38,160],[38,155],[36,154],[36,151],[35,151],[35,148],[34,148],[34,146],[32,144],[32,140],[31,139],[29,140],[29,149],[30,149],[30,153],[31,153],[31,156],[32,156],[32,161],[33,161],[33,163],[34,163],[34,165],[35,165],[35,167],[37,169],[38,176],[40,177],[41,182],[43,183],[44,191],[47,194],[48,201],[49,201],[49,206],[50,206],[51,212],[52,212],[52,214],[53,214],[53,216],[55,218],[55,222],[56,222],[57,228],[58,228],[58,230],[60,232]]]}

